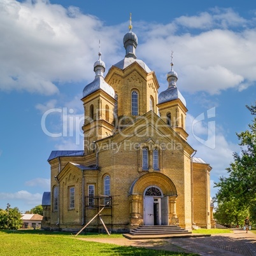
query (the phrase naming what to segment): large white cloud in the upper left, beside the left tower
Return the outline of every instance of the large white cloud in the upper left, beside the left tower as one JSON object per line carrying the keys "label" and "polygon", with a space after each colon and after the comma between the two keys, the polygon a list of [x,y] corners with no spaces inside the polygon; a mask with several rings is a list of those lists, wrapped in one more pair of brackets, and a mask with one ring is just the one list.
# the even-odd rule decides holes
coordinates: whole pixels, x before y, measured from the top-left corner
{"label": "large white cloud in the upper left, beside the left tower", "polygon": [[42,0],[1,1],[0,24],[0,89],[48,95],[59,92],[56,82],[92,78],[99,38],[111,54],[118,34],[78,8]]}

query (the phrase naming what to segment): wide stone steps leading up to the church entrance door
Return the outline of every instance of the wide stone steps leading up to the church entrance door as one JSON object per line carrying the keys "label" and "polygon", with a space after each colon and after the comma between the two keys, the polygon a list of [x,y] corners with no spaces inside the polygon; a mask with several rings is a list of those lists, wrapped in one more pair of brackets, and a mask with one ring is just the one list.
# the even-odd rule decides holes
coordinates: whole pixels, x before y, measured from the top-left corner
{"label": "wide stone steps leading up to the church entrance door", "polygon": [[141,225],[123,236],[128,239],[162,239],[191,237],[197,234],[192,234],[192,231],[187,231],[177,225]]}

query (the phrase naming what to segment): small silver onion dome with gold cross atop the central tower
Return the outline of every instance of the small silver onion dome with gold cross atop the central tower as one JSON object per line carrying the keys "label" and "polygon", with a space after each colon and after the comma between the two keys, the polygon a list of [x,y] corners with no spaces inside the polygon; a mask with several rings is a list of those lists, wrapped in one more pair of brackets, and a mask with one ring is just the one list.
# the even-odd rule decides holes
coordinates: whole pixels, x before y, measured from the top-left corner
{"label": "small silver onion dome with gold cross atop the central tower", "polygon": [[134,32],[132,32],[132,16],[130,13],[130,25],[129,25],[129,32],[124,35],[123,39],[124,48],[125,48],[125,57],[132,57],[136,59],[135,50],[138,45],[138,37]]}

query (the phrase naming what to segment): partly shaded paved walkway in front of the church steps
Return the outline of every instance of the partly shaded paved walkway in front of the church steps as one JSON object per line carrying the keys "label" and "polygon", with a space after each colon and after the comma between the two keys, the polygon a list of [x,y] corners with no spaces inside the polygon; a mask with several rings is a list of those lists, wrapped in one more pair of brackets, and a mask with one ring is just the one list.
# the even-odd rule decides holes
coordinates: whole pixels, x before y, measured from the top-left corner
{"label": "partly shaded paved walkway in front of the church steps", "polygon": [[190,252],[199,255],[225,255],[225,256],[255,256],[256,234],[241,229],[234,229],[230,234],[213,234],[210,237],[201,238],[168,238],[129,240],[127,238],[79,238],[86,241],[99,243],[112,243],[124,246],[142,246],[156,250],[168,250],[173,252]]}

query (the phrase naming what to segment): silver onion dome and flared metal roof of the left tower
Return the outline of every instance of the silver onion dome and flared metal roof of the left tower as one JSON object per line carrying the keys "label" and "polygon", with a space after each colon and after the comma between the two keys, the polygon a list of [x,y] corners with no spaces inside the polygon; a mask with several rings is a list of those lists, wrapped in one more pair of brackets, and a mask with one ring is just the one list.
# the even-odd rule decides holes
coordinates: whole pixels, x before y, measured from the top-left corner
{"label": "silver onion dome and flared metal roof of the left tower", "polygon": [[99,59],[94,63],[94,72],[95,78],[92,83],[86,85],[83,89],[83,97],[89,96],[92,92],[96,92],[97,90],[103,90],[111,97],[115,97],[115,90],[105,82],[103,73],[105,71],[105,63],[101,60],[101,52],[99,52]]}

